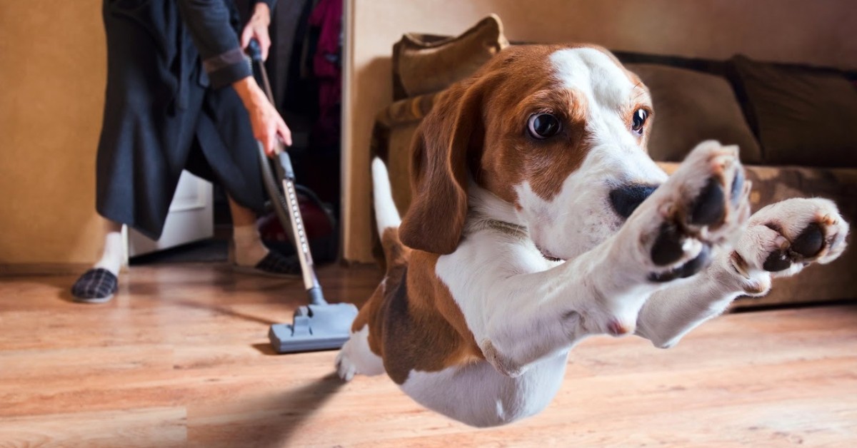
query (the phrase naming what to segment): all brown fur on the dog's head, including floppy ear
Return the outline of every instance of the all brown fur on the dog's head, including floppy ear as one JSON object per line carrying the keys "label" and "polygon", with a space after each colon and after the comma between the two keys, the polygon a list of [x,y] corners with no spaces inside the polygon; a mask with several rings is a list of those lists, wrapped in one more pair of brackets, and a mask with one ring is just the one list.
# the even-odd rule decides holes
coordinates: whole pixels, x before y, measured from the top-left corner
{"label": "all brown fur on the dog's head, including floppy ear", "polygon": [[[584,93],[562,85],[550,60],[555,51],[569,48],[579,47],[506,48],[472,78],[439,96],[411,145],[413,202],[400,227],[402,242],[434,254],[451,254],[464,228],[468,176],[516,205],[513,188],[523,182],[545,200],[560,192],[592,146],[586,128],[590,105]],[[639,86],[638,103],[649,104],[648,91],[637,75],[609,51],[594,48]],[[637,109],[630,107],[629,126]],[[544,140],[531,136],[528,120],[539,113],[556,116],[560,132]]]}

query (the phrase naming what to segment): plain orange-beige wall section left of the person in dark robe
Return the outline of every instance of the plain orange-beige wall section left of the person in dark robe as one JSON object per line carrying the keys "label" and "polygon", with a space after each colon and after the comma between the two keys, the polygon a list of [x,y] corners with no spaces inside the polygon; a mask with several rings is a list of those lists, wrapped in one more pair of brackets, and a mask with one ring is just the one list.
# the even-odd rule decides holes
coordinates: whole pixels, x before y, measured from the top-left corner
{"label": "plain orange-beige wall section left of the person in dark robe", "polygon": [[0,265],[97,256],[105,50],[101,0],[0,1]]}

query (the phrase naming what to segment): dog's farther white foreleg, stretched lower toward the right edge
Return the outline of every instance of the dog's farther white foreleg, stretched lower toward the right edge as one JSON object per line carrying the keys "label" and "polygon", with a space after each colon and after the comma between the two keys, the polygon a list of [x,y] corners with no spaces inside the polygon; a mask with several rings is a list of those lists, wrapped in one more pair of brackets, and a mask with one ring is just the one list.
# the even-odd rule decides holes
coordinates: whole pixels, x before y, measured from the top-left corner
{"label": "dog's farther white foreleg, stretched lower toward the right edge", "polygon": [[736,297],[766,294],[772,277],[835,260],[847,234],[848,223],[830,200],[791,199],[766,206],[752,215],[734,250],[716,254],[697,276],[651,296],[640,310],[636,333],[657,347],[671,347]]}

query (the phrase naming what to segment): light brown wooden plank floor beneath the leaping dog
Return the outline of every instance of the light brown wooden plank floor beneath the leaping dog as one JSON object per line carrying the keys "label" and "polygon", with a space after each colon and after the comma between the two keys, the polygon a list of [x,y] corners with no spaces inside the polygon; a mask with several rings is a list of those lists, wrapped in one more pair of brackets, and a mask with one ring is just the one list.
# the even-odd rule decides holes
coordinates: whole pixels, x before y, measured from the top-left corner
{"label": "light brown wooden plank floor beneath the leaping dog", "polygon": [[[362,302],[374,268],[321,269]],[[135,266],[113,302],[71,277],[0,278],[0,446],[854,446],[857,307],[723,316],[669,350],[598,337],[547,410],[476,430],[335,352],[273,355],[298,281],[222,264]]]}

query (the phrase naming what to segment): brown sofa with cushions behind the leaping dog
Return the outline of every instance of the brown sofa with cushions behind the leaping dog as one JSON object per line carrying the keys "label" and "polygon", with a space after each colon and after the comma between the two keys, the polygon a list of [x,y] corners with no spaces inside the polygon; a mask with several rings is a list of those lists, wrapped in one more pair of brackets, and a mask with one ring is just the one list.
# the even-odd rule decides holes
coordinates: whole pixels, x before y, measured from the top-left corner
{"label": "brown sofa with cushions behind the leaping dog", "polygon": [[[394,102],[376,117],[371,149],[387,161],[399,212],[411,202],[411,137],[434,96],[464,79],[509,42],[491,15],[458,37],[406,34],[393,47]],[[791,197],[835,200],[857,224],[857,74],[787,64],[614,54],[650,88],[649,149],[668,172],[699,141],[740,146],[753,210]],[[850,239],[850,238],[849,238]],[[735,307],[857,298],[857,250]]]}

